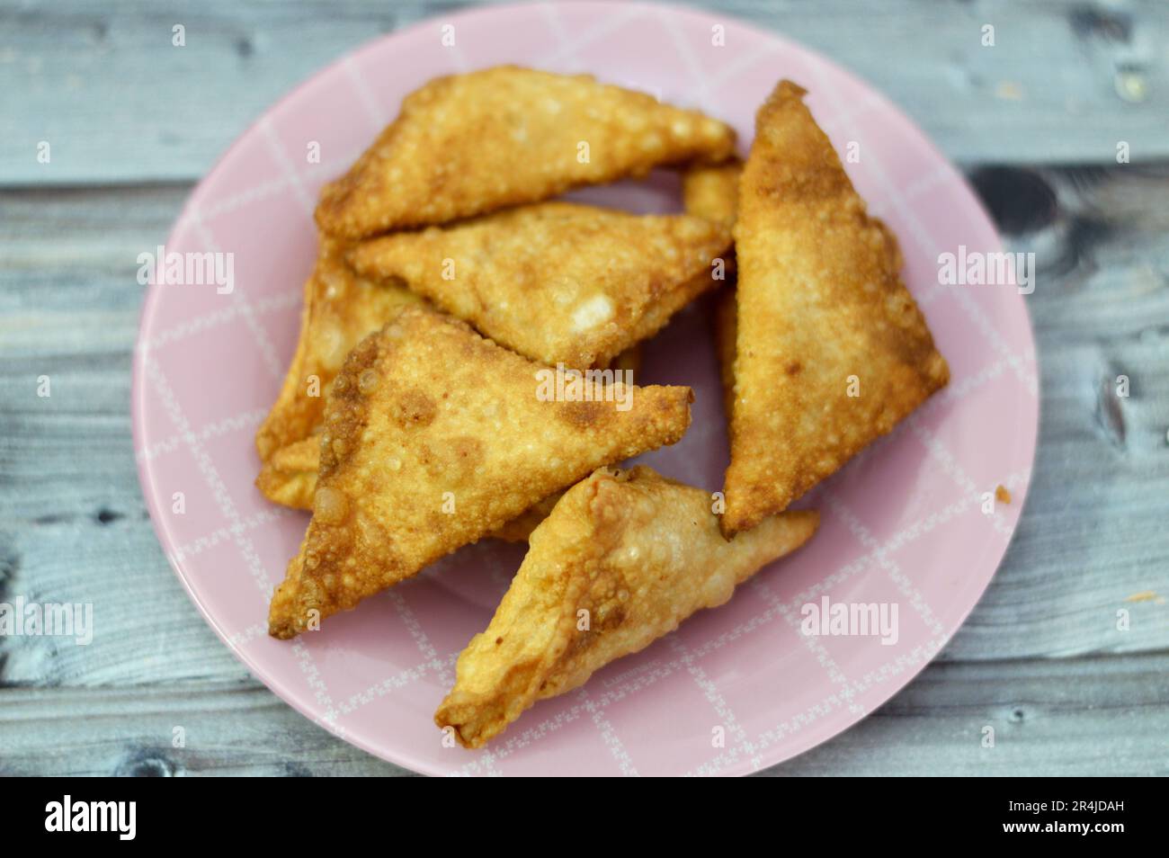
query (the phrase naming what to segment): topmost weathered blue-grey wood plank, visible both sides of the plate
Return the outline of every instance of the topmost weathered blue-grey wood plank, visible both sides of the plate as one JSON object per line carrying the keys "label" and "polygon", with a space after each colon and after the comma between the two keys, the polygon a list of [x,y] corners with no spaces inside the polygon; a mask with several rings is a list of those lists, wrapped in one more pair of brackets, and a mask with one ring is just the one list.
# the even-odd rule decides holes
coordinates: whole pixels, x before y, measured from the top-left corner
{"label": "topmost weathered blue-grey wood plank, visible both sides of the plate", "polygon": [[[851,68],[960,161],[1114,164],[1119,140],[1136,161],[1169,155],[1169,15],[1157,0],[711,5]],[[321,65],[457,6],[0,0],[0,186],[195,179]],[[186,47],[172,44],[175,25]],[[987,25],[994,47],[982,44]]]}

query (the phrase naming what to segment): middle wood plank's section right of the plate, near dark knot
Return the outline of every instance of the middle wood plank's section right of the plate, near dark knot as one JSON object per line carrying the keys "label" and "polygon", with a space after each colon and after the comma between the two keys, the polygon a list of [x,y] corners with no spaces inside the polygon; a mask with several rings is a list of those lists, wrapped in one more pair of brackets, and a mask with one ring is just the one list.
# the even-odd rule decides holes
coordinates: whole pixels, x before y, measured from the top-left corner
{"label": "middle wood plank's section right of the plate, near dark knot", "polygon": [[[1169,171],[980,171],[1028,297],[1042,414],[1032,494],[1007,559],[943,658],[1169,642]],[[1130,395],[1116,395],[1126,375]],[[1004,417],[1009,418],[1009,417]],[[1143,631],[1116,631],[1127,609]],[[1149,635],[1144,637],[1144,635]]]}

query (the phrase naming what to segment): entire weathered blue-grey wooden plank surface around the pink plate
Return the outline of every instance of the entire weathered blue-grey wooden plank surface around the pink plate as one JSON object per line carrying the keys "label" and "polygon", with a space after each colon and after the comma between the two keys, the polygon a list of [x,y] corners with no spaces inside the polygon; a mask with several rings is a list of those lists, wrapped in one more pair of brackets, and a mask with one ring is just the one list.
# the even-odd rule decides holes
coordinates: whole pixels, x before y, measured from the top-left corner
{"label": "entire weathered blue-grey wooden plank surface around the pink plate", "polygon": [[[90,646],[0,639],[0,774],[401,774],[251,678],[168,568],[130,438],[134,271],[265,106],[457,6],[0,0],[0,601],[103,606]],[[876,84],[1039,261],[1039,449],[1002,568],[900,694],[768,774],[1169,773],[1169,5],[711,6]]]}

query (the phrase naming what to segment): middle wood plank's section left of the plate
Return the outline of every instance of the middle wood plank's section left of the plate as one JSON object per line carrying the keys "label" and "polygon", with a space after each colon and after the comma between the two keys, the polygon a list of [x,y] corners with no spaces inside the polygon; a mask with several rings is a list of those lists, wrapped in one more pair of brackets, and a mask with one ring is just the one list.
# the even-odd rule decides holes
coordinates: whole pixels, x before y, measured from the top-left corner
{"label": "middle wood plank's section left of the plate", "polygon": [[248,677],[162,555],[130,435],[136,257],[165,240],[187,193],[0,196],[0,601],[97,602],[88,646],[0,641],[0,684]]}

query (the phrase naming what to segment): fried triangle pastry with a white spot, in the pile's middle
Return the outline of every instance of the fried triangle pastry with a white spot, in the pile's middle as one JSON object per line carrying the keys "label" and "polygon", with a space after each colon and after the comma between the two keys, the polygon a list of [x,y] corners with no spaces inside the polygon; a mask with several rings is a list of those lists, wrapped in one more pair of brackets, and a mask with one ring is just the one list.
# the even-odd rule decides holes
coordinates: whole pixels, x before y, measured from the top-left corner
{"label": "fried triangle pastry with a white spot, in the pile's middle", "polygon": [[606,366],[711,288],[729,224],[569,202],[395,233],[350,252],[500,345],[549,366]]}

